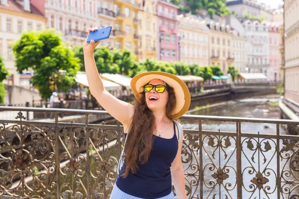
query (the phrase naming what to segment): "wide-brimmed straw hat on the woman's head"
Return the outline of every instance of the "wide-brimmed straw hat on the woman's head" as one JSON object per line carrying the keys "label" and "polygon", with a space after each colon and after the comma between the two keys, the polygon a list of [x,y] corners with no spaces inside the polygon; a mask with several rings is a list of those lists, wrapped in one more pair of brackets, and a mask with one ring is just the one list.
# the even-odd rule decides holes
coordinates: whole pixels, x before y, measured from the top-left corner
{"label": "wide-brimmed straw hat on the woman's head", "polygon": [[170,117],[171,119],[176,119],[184,115],[189,109],[191,96],[188,90],[187,85],[175,75],[165,72],[145,72],[136,75],[131,80],[131,89],[136,97],[139,100],[139,93],[144,91],[143,86],[148,84],[150,80],[160,79],[166,82],[170,87],[174,89],[176,97],[176,105],[172,111]]}

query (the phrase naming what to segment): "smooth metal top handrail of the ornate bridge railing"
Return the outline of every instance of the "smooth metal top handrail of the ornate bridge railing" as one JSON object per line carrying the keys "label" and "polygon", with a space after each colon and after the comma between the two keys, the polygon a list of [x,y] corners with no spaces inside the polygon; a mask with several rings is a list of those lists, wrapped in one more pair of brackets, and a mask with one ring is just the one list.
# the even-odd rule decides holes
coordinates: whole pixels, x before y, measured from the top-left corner
{"label": "smooth metal top handrail of the ornate bridge railing", "polygon": [[[38,107],[18,107],[18,106],[0,106],[0,110],[9,111],[33,111],[33,112],[64,112],[64,113],[83,113],[95,115],[109,115],[106,110],[85,110],[85,109],[66,109],[66,108],[38,108]],[[217,121],[239,121],[253,123],[292,123],[299,125],[299,120],[292,119],[265,119],[251,117],[231,117],[231,116],[211,116],[211,115],[191,115],[185,114],[181,119],[197,119],[197,120],[217,120]]]}

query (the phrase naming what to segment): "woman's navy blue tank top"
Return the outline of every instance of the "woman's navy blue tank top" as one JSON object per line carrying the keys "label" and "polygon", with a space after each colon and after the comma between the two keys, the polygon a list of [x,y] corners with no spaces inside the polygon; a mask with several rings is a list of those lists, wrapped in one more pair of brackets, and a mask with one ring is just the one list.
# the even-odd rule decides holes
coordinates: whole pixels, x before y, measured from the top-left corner
{"label": "woman's navy blue tank top", "polygon": [[143,199],[157,199],[171,193],[170,166],[178,150],[174,123],[173,128],[174,135],[170,139],[153,134],[155,139],[148,162],[146,164],[139,163],[139,171],[135,175],[129,172],[128,176],[123,178],[120,175],[126,167],[125,157],[120,175],[116,180],[116,185],[121,191]]}

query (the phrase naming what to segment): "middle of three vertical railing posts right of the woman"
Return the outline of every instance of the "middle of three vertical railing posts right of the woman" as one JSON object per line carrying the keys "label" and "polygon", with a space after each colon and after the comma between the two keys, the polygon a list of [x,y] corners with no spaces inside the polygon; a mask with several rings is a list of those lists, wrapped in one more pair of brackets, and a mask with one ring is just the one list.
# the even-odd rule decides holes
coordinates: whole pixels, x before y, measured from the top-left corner
{"label": "middle of three vertical railing posts right of the woman", "polygon": [[237,199],[242,199],[242,142],[241,142],[241,122],[236,122],[236,131],[237,131]]}

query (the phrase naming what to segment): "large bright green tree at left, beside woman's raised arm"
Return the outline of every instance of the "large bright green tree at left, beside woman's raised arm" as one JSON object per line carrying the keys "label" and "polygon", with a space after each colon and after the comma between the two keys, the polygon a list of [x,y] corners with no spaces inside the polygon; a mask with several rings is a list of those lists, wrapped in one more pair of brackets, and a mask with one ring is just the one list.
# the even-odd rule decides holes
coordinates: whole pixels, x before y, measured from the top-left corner
{"label": "large bright green tree at left, beside woman's raised arm", "polygon": [[53,91],[67,91],[74,85],[80,70],[79,59],[71,48],[61,42],[60,33],[53,30],[23,32],[13,45],[17,71],[33,70],[32,85],[43,99]]}

